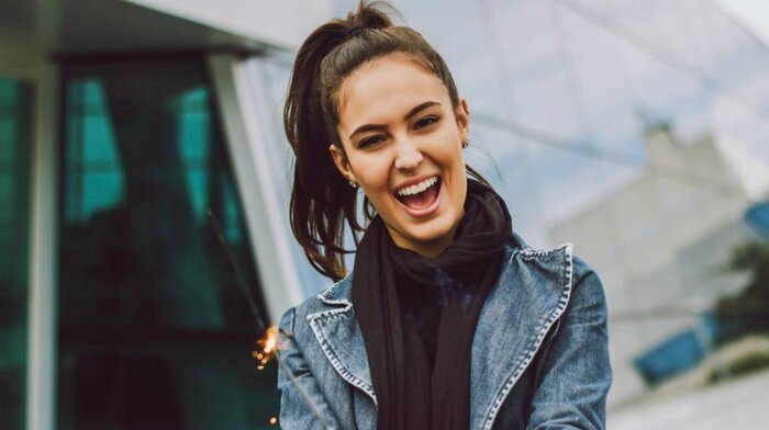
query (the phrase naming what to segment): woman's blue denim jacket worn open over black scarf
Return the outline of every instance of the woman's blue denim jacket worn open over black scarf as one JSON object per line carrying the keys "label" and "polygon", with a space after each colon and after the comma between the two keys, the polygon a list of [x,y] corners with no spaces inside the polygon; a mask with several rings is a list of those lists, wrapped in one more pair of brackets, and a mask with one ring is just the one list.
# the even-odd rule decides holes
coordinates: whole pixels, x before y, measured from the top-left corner
{"label": "woman's blue denim jacket worn open over black scarf", "polygon": [[[601,281],[570,244],[534,250],[514,235],[506,252],[472,342],[470,428],[603,429],[612,371]],[[281,428],[376,428],[350,297],[348,275],[281,318]]]}

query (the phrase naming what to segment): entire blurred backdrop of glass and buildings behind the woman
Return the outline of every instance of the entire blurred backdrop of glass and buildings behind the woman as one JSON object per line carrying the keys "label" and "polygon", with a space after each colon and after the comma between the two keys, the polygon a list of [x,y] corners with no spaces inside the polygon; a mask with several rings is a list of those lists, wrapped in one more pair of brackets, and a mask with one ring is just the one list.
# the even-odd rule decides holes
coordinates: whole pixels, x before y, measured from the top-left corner
{"label": "entire blurred backdrop of glass and buildings behind the woman", "polygon": [[[609,428],[762,428],[769,3],[393,3],[514,228],[601,275]],[[274,428],[259,320],[330,284],[288,226],[282,102],[354,7],[0,0],[0,428]]]}

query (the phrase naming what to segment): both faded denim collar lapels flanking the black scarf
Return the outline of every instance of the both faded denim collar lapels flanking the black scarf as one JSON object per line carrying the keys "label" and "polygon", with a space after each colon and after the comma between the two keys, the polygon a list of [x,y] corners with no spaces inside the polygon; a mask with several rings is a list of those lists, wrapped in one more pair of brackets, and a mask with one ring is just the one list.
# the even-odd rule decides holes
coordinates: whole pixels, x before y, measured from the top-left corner
{"label": "both faded denim collar lapels flanking the black scarf", "polygon": [[[571,245],[537,251],[513,235],[497,286],[487,298],[472,342],[470,428],[489,429],[531,364],[571,292]],[[536,282],[535,282],[536,281]],[[325,309],[308,320],[337,373],[377,404],[360,327],[352,303],[352,274],[321,293]]]}

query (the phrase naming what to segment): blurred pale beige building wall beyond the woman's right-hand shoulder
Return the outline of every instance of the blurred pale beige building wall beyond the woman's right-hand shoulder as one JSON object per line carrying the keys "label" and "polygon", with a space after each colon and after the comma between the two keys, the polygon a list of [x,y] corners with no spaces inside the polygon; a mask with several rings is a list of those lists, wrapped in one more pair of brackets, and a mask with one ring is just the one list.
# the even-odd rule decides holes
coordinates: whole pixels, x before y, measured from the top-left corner
{"label": "blurred pale beige building wall beyond the woman's right-hand shoulder", "polygon": [[[621,382],[612,405],[646,391],[635,359],[739,291],[745,276],[725,267],[732,250],[753,238],[742,220],[750,200],[734,170],[739,166],[728,163],[711,136],[682,143],[667,127],[646,136],[648,173],[549,229],[555,242],[580,244],[575,252],[605,285]],[[657,176],[658,169],[687,181]]]}

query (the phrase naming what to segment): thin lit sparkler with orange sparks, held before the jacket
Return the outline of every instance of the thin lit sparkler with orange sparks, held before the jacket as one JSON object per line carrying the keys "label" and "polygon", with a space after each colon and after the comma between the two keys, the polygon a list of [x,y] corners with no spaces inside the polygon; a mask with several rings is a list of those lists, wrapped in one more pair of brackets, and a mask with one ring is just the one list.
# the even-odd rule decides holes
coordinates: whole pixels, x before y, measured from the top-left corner
{"label": "thin lit sparkler with orange sparks, held before the jacket", "polygon": [[[209,220],[211,222],[211,226],[213,227],[214,233],[216,234],[216,238],[219,239],[219,242],[222,245],[224,248],[224,251],[227,254],[227,259],[230,260],[230,264],[232,265],[233,270],[235,271],[235,275],[237,278],[237,283],[241,285],[241,288],[243,290],[243,293],[246,295],[246,299],[248,302],[248,307],[250,308],[252,315],[254,316],[254,319],[256,319],[256,325],[259,328],[259,331],[263,331],[265,335],[263,338],[260,338],[256,343],[259,347],[258,351],[253,351],[252,357],[257,360],[259,363],[257,365],[258,370],[264,370],[265,365],[272,359],[275,358],[275,361],[278,363],[280,366],[280,370],[286,374],[286,377],[291,382],[291,385],[293,385],[293,388],[299,393],[299,396],[302,398],[304,404],[310,408],[312,411],[312,415],[315,417],[315,419],[322,423],[324,429],[333,429],[328,421],[321,415],[321,411],[317,409],[317,406],[312,401],[310,396],[307,394],[304,388],[302,388],[301,385],[297,382],[296,376],[293,375],[293,372],[286,365],[286,363],[280,359],[280,352],[279,352],[279,343],[278,343],[278,337],[279,335],[282,335],[288,339],[288,341],[291,341],[291,335],[287,333],[286,331],[278,330],[278,327],[276,326],[269,326],[265,324],[265,320],[261,316],[261,313],[259,312],[259,308],[256,306],[256,301],[254,299],[254,295],[252,294],[250,290],[248,290],[248,284],[246,283],[245,278],[243,276],[243,271],[241,271],[241,265],[237,263],[237,260],[235,260],[235,256],[232,252],[232,249],[230,249],[230,246],[227,245],[226,240],[224,239],[224,235],[222,234],[222,229],[219,226],[219,223],[216,222],[216,218],[213,216],[213,212],[211,210],[208,211],[208,216]],[[269,419],[270,425],[275,425],[277,422],[277,418],[271,417]]]}

